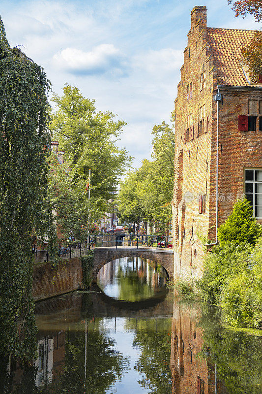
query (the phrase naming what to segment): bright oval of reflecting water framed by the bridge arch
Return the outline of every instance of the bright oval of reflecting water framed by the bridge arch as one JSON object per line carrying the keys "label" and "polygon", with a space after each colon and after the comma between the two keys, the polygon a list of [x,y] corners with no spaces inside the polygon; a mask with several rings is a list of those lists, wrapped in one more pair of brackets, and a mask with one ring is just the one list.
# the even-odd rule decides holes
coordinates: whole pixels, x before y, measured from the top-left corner
{"label": "bright oval of reflecting water framed by the bridge arch", "polygon": [[166,283],[165,269],[139,257],[125,257],[105,264],[97,275],[97,284],[107,296],[138,301],[155,296]]}

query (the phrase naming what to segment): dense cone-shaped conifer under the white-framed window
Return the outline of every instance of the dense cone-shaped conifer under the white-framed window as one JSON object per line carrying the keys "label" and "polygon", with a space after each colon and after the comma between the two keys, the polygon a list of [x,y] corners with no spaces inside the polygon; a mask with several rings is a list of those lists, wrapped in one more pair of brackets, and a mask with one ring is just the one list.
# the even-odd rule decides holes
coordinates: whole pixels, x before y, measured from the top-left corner
{"label": "dense cone-shaped conifer under the white-framed window", "polygon": [[234,204],[233,212],[219,227],[217,234],[221,246],[227,242],[247,242],[250,245],[257,242],[262,235],[262,227],[253,217],[252,207],[246,198]]}

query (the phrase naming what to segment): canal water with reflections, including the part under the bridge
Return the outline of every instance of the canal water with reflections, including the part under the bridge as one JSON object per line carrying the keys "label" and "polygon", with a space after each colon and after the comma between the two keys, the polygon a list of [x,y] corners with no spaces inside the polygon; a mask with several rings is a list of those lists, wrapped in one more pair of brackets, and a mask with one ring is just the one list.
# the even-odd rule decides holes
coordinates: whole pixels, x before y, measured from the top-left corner
{"label": "canal water with reflections, including the part under the bridge", "polygon": [[261,394],[262,336],[182,302],[156,263],[105,265],[91,292],[36,304],[38,354],[0,376],[4,394]]}

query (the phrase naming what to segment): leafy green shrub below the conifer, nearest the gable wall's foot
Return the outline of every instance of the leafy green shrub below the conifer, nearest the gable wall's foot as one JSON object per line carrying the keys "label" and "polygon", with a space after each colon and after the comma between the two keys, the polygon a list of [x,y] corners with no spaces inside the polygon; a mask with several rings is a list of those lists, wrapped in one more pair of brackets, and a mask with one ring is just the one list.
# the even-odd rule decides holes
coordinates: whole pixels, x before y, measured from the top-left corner
{"label": "leafy green shrub below the conifer, nearest the gable wall's foot", "polygon": [[196,281],[198,293],[203,301],[219,303],[229,277],[247,268],[252,247],[246,243],[215,246],[204,255],[203,277]]}

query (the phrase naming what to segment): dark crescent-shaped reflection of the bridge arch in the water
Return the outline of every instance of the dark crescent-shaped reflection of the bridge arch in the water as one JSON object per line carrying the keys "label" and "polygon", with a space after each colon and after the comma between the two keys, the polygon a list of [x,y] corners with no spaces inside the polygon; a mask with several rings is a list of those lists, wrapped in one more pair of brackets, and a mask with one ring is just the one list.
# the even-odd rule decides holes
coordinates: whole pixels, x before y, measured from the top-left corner
{"label": "dark crescent-shaped reflection of the bridge arch in the water", "polygon": [[140,299],[139,301],[122,301],[107,296],[96,283],[92,284],[91,290],[98,292],[101,300],[107,305],[110,305],[111,308],[114,307],[118,310],[124,311],[139,311],[141,309],[152,308],[162,302],[169,293],[169,290],[166,287],[162,287],[153,297]]}

